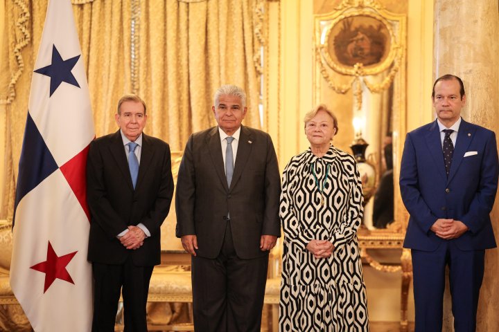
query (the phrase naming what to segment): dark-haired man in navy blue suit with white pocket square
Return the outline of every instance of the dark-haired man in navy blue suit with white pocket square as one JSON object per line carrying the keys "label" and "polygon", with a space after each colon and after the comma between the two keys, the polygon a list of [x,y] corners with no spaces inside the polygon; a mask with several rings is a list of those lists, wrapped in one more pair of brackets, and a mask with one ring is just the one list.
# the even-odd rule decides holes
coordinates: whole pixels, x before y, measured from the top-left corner
{"label": "dark-haired man in navy blue suit with white pocket square", "polygon": [[496,135],[461,118],[466,95],[459,77],[439,77],[432,102],[437,120],[408,133],[400,173],[415,328],[441,331],[448,266],[455,331],[475,331],[485,249],[496,248],[489,216],[498,186]]}

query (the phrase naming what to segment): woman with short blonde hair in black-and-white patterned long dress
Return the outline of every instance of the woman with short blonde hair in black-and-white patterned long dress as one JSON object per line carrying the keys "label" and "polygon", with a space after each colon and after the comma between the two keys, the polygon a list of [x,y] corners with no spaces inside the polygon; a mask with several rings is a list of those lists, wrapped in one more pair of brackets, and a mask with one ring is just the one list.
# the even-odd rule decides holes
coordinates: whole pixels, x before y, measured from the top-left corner
{"label": "woman with short blonde hair in black-and-white patterned long dress", "polygon": [[331,145],[338,120],[324,105],[306,114],[310,148],[283,172],[280,331],[369,331],[357,241],[362,183],[356,161]]}

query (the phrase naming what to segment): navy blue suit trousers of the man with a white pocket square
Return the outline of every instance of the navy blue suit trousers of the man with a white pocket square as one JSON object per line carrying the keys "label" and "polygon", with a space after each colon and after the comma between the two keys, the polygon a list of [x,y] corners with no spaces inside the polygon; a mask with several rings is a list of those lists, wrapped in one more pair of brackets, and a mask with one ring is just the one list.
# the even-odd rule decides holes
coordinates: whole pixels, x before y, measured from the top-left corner
{"label": "navy blue suit trousers of the man with a white pocket square", "polygon": [[445,271],[449,268],[455,332],[475,331],[485,250],[460,250],[452,240],[432,252],[411,250],[415,331],[441,331]]}

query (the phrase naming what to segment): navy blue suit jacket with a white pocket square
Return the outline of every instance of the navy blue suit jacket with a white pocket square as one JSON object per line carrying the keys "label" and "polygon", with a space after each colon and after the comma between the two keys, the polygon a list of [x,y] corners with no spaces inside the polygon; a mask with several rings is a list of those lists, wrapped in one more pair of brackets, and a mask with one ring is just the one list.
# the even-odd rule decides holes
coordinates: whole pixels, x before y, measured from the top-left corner
{"label": "navy blue suit jacket with a white pocket square", "polygon": [[[466,152],[472,154],[464,157]],[[433,251],[443,241],[454,241],[461,250],[495,248],[489,214],[498,169],[493,131],[461,121],[448,178],[437,121],[408,133],[400,172],[402,200],[410,214],[404,248]],[[439,218],[462,221],[469,231],[441,239],[430,230]]]}

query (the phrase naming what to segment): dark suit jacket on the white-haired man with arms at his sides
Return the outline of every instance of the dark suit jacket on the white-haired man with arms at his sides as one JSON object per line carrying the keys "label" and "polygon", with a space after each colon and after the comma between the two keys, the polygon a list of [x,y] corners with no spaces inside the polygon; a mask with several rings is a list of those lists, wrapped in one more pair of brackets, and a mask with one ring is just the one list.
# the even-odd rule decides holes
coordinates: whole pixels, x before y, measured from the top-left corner
{"label": "dark suit jacket on the white-haired man with arms at his sides", "polygon": [[177,237],[195,234],[197,254],[218,256],[230,212],[234,248],[241,259],[267,255],[261,235],[281,235],[281,180],[272,139],[241,126],[234,176],[227,187],[218,127],[194,133],[177,178]]}

